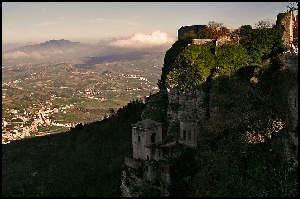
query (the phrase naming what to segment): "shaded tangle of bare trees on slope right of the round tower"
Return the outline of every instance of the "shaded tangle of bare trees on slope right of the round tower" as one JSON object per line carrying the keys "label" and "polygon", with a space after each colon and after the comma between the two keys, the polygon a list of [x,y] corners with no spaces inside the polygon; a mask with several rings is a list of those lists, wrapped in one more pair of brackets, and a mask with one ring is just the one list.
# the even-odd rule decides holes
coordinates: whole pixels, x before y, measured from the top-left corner
{"label": "shaded tangle of bare trees on slope right of the round tower", "polygon": [[255,73],[259,83],[231,78],[219,84],[218,118],[198,128],[199,167],[191,195],[246,197],[298,182],[287,158],[298,150],[282,147],[289,137],[284,127],[291,74],[279,56]]}

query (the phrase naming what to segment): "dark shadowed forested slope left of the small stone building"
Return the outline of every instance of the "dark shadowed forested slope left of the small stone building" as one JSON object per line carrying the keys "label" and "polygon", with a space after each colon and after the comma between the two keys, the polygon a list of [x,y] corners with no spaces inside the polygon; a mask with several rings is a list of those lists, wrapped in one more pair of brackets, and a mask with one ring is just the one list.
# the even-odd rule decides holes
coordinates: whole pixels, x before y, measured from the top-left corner
{"label": "dark shadowed forested slope left of the small stone building", "polygon": [[102,121],[2,145],[2,197],[121,196],[120,166],[144,108],[135,100]]}

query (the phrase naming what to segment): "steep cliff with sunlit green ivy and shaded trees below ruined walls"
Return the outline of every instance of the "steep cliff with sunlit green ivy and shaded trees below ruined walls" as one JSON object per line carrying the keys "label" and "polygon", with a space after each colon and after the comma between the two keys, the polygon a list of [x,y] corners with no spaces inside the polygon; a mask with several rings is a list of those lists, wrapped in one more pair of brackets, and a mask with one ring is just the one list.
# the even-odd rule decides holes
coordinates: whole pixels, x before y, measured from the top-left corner
{"label": "steep cliff with sunlit green ivy and shaded trees below ruined walls", "polygon": [[[242,45],[219,46],[218,56],[213,43],[186,48],[180,40],[166,53],[157,94],[167,107],[165,137],[180,137],[181,115],[198,118],[189,194],[247,196],[298,182],[298,55],[277,54],[281,38],[276,29],[254,30]],[[151,110],[156,120],[158,101],[148,101],[144,119]]]}

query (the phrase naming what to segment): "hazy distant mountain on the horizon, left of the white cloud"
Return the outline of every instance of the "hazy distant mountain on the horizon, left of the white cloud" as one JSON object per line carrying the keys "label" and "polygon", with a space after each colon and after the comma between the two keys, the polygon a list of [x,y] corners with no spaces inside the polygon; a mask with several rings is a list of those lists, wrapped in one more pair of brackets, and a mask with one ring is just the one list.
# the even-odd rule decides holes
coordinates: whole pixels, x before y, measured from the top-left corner
{"label": "hazy distant mountain on the horizon, left of the white cloud", "polygon": [[6,50],[2,52],[2,55],[6,53],[14,53],[14,52],[24,52],[24,53],[31,53],[31,52],[39,52],[42,54],[57,54],[57,53],[65,53],[66,52],[74,52],[75,50],[83,50],[89,48],[90,45],[86,45],[79,42],[71,42],[65,39],[60,40],[50,40],[46,41],[45,43],[35,44],[35,45],[27,45],[21,46],[18,48]]}

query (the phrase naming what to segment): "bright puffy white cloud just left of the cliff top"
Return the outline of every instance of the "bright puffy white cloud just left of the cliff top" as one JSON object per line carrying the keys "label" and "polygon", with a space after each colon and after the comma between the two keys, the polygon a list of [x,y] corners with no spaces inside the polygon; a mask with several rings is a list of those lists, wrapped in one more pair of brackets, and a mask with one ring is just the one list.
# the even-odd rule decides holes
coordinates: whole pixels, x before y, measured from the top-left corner
{"label": "bright puffy white cloud just left of the cliff top", "polygon": [[168,36],[167,33],[160,30],[154,30],[150,35],[134,33],[131,37],[114,41],[110,46],[121,48],[152,48],[168,43],[173,44],[176,37]]}

